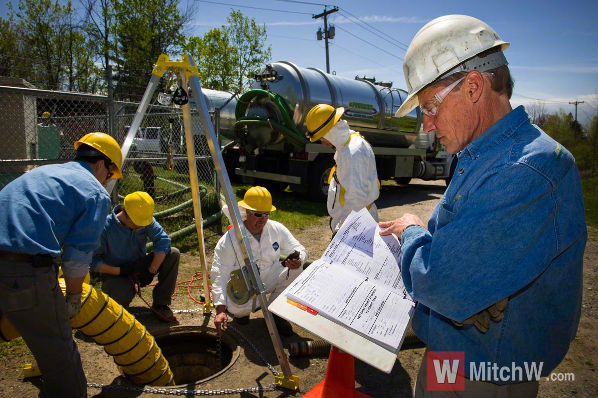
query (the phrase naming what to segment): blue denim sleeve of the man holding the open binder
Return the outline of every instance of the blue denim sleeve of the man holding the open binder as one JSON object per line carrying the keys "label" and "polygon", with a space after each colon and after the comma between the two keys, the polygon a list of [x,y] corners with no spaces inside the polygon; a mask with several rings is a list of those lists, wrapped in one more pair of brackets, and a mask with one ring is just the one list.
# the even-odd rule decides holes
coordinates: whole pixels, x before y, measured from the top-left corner
{"label": "blue denim sleeve of the man holding the open binder", "polygon": [[411,228],[403,237],[408,293],[463,321],[526,287],[556,255],[552,193],[547,178],[515,163],[480,178],[456,212],[438,205],[433,235]]}

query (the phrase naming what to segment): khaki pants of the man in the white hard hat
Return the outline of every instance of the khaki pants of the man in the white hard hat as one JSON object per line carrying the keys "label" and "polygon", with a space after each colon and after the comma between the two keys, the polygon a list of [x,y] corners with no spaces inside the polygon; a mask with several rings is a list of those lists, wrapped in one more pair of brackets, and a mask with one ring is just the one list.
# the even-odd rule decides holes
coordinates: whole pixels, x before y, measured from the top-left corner
{"label": "khaki pants of the man in the white hard hat", "polygon": [[475,381],[465,378],[465,391],[426,391],[428,372],[426,371],[426,356],[423,354],[422,365],[417,373],[414,398],[533,398],[538,396],[538,381],[521,381],[511,384],[495,384],[489,381]]}

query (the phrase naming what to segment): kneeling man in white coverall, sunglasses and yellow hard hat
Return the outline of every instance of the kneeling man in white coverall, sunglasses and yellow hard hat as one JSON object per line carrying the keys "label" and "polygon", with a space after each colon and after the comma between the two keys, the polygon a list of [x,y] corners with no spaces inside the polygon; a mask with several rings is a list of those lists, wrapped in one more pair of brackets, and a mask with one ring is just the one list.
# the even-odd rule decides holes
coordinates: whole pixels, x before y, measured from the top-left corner
{"label": "kneeling man in white coverall, sunglasses and yellow hard hat", "polygon": [[[260,269],[260,277],[266,285],[266,293],[271,293],[269,302],[273,302],[285,288],[303,271],[302,265],[307,260],[307,251],[295,239],[285,226],[270,220],[270,212],[276,210],[272,205],[270,192],[264,187],[252,187],[247,190],[243,200],[237,203],[242,210],[241,215],[245,228],[251,233],[249,244],[254,260]],[[286,260],[280,263],[280,255],[288,256],[294,251],[299,252],[298,259]],[[216,306],[214,323],[218,333],[226,329],[228,317],[226,310],[234,315],[234,321],[239,324],[249,323],[252,300],[238,305],[227,295],[226,285],[230,280],[230,273],[240,269],[243,262],[242,252],[237,241],[237,235],[231,228],[220,238],[214,249],[214,262],[210,278],[212,279],[212,300]],[[292,334],[292,327],[288,321],[274,315],[276,328],[283,336]]]}

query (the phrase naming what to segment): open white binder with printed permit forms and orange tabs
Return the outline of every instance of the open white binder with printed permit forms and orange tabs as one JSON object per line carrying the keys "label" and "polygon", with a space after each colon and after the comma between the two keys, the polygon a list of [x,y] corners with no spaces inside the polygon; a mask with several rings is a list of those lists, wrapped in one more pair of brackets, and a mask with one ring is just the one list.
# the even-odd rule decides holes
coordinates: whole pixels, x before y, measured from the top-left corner
{"label": "open white binder with printed permit forms and orange tabs", "polygon": [[321,259],[270,311],[356,358],[392,370],[415,303],[402,281],[396,236],[380,236],[367,209],[352,212]]}

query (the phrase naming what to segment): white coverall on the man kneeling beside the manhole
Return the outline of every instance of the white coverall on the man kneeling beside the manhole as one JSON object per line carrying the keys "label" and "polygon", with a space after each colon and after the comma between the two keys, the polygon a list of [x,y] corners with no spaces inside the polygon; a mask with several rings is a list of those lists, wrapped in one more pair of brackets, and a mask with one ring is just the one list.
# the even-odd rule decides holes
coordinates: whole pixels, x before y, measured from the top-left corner
{"label": "white coverall on the man kneeling beside the manhole", "polygon": [[[288,256],[294,250],[299,251],[301,265],[307,260],[307,251],[291,232],[277,221],[268,220],[262,230],[260,242],[253,235],[249,235],[249,245],[254,260],[260,266],[260,277],[266,285],[266,293],[270,295],[269,302],[273,302],[285,288],[301,274],[303,268],[288,269],[280,265],[280,256]],[[226,285],[230,273],[244,265],[243,256],[237,241],[237,235],[231,228],[216,244],[214,262],[210,279],[212,279],[212,300],[214,306],[224,304],[228,312],[236,317],[245,317],[251,313],[253,299],[243,305],[233,303],[227,297]],[[288,279],[286,278],[288,272]],[[259,303],[259,302],[258,302]]]}

